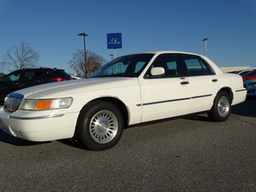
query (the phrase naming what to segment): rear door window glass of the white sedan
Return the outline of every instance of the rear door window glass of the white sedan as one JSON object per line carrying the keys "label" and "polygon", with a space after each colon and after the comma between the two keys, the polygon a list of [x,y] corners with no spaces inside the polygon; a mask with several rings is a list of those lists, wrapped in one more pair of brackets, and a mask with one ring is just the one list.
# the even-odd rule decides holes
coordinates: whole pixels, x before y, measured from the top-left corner
{"label": "rear door window glass of the white sedan", "polygon": [[188,76],[200,76],[214,74],[210,66],[202,58],[194,55],[183,54],[182,57],[186,63]]}

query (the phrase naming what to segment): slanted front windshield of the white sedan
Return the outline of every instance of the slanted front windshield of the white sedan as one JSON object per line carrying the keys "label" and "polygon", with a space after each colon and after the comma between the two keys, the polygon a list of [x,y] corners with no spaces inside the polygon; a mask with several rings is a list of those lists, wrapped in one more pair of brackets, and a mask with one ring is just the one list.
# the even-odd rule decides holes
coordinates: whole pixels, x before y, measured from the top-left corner
{"label": "slanted front windshield of the white sedan", "polygon": [[115,58],[96,70],[89,78],[138,77],[154,54],[131,54]]}

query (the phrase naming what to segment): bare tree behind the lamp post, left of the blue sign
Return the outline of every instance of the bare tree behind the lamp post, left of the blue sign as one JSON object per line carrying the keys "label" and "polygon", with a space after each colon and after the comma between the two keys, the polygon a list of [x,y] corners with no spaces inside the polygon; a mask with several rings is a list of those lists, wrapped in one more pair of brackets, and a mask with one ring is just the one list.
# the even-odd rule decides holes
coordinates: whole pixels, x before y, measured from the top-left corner
{"label": "bare tree behind the lamp post, left of the blue sign", "polygon": [[98,70],[104,63],[105,59],[102,56],[95,54],[92,51],[86,51],[86,65],[85,65],[85,53],[83,50],[77,50],[73,53],[73,57],[68,64],[78,76],[88,78],[88,76]]}

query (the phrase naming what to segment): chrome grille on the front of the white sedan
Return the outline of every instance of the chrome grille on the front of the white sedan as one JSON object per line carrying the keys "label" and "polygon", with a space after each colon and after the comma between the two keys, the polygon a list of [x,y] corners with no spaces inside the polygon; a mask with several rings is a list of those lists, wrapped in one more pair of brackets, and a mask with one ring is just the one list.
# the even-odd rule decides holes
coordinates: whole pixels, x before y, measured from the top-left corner
{"label": "chrome grille on the front of the white sedan", "polygon": [[24,96],[22,94],[8,94],[4,102],[4,110],[7,112],[14,112],[18,110]]}

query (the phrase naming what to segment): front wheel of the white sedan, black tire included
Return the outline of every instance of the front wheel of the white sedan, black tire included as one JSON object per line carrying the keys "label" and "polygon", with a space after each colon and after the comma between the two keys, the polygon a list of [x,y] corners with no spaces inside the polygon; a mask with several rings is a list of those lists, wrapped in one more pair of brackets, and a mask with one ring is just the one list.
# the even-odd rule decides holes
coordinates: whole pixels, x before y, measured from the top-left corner
{"label": "front wheel of the white sedan, black tire included", "polygon": [[78,120],[78,140],[90,150],[107,150],[122,137],[122,113],[110,102],[91,102]]}

